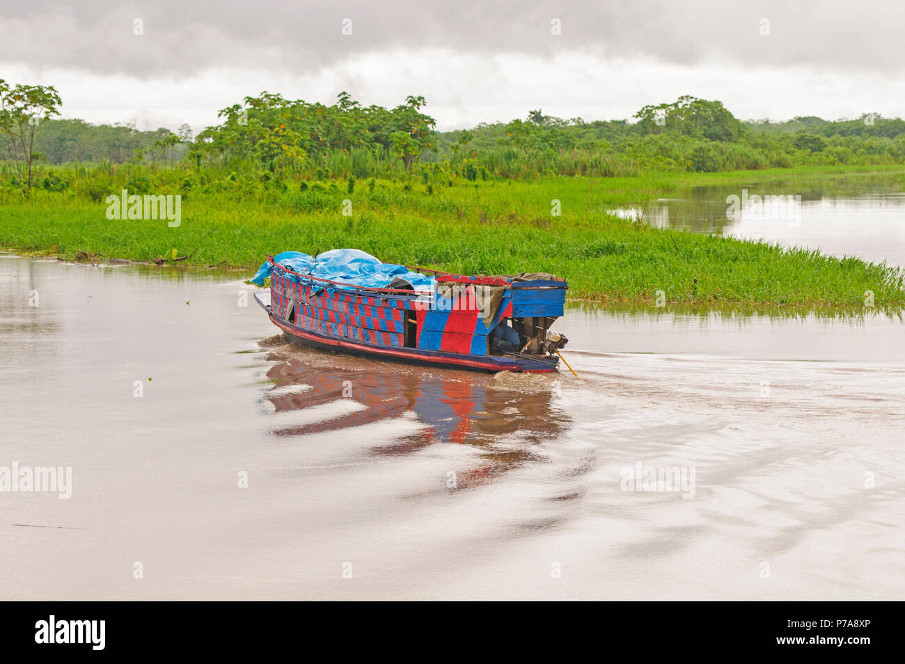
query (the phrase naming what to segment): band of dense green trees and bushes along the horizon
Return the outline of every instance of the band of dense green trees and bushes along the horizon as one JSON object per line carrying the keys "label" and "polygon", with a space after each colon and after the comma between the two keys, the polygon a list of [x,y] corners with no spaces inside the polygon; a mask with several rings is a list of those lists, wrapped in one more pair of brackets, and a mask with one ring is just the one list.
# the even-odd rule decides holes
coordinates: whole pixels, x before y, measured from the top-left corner
{"label": "band of dense green trees and bushes along the horizon", "polygon": [[[905,162],[905,121],[900,119],[864,114],[855,120],[742,121],[719,101],[691,96],[645,106],[626,120],[561,119],[536,110],[524,120],[437,132],[424,112],[423,97],[409,96],[387,109],[363,106],[347,92],[330,106],[263,92],[219,111],[220,122],[193,137],[187,125],[177,132],[140,131],[130,125],[61,120],[54,117],[60,105],[55,91],[47,93],[52,88],[5,89],[4,97],[0,88],[0,101],[8,102],[0,110],[0,142],[6,143],[0,181],[13,185],[25,177],[25,170],[11,164],[20,151],[24,154],[23,137],[29,134],[29,179],[32,166],[40,168],[40,162],[79,165],[76,175],[84,168],[103,172],[129,164],[152,171],[204,172],[203,184],[213,190],[248,178],[265,184],[418,178],[425,184],[452,185],[456,178],[612,177]],[[32,111],[23,106],[28,94],[36,95]],[[18,116],[13,114],[16,99]],[[41,121],[27,127],[25,120],[37,117],[29,112],[38,111]],[[10,131],[16,118],[22,150]],[[51,168],[37,178],[49,189],[66,188],[70,181],[65,169]]]}

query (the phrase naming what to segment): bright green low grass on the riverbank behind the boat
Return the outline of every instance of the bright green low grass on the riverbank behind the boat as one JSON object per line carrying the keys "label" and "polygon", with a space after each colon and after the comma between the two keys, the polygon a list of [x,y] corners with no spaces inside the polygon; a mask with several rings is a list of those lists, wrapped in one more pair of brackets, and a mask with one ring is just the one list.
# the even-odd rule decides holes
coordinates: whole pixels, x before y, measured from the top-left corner
{"label": "bright green low grass on the riverbank behind the boat", "polygon": [[[872,168],[870,172],[876,172]],[[881,169],[886,170],[886,169]],[[899,169],[900,170],[900,169]],[[356,247],[381,260],[462,274],[544,271],[564,276],[575,298],[605,303],[704,306],[861,308],[872,291],[878,309],[900,310],[905,275],[857,258],[782,249],[718,236],[669,232],[607,214],[675,188],[803,178],[840,170],[793,168],[719,174],[651,174],[638,178],[544,178],[458,181],[452,188],[418,183],[344,181],[307,191],[192,191],[182,224],[108,220],[103,202],[42,192],[28,203],[0,206],[0,246],[71,258],[77,252],[150,261],[189,255],[191,265],[247,268],[265,254],[310,254]],[[111,188],[111,192],[118,192]],[[168,193],[161,189],[155,193]],[[352,200],[351,217],[342,201]],[[551,216],[551,201],[561,216]]]}

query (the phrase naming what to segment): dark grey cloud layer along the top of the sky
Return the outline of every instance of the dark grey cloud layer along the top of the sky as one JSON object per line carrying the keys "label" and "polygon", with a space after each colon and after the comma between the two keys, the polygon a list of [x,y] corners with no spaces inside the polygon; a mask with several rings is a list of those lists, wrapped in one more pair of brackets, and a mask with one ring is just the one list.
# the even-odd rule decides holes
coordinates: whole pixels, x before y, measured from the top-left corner
{"label": "dark grey cloud layer along the top of the sky", "polygon": [[[304,72],[357,53],[445,48],[460,53],[588,52],[666,63],[804,65],[819,72],[896,72],[899,2],[238,2],[51,0],[0,9],[0,63],[139,78],[215,67]],[[144,34],[133,34],[133,21]],[[352,20],[351,36],[341,21]],[[562,34],[550,34],[558,18]],[[768,36],[760,34],[769,21]],[[2,77],[0,72],[0,77]]]}

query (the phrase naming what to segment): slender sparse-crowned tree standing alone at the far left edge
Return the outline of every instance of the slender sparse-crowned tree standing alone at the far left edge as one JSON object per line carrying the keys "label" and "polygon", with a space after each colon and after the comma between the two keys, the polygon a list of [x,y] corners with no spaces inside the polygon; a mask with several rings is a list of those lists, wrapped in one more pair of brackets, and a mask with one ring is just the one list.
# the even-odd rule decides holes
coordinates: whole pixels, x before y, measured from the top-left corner
{"label": "slender sparse-crowned tree standing alone at the far left edge", "polygon": [[44,120],[60,115],[61,105],[60,95],[52,86],[20,83],[10,88],[0,79],[0,138],[24,194],[32,188],[34,163],[43,159],[34,149],[34,134]]}

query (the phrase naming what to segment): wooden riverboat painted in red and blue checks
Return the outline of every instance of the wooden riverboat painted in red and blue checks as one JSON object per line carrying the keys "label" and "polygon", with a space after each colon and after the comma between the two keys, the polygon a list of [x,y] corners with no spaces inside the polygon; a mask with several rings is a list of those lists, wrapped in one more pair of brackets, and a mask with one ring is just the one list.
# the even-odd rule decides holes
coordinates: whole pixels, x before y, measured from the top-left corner
{"label": "wooden riverboat painted in red and blue checks", "polygon": [[[267,257],[270,291],[255,300],[287,341],[378,360],[479,371],[557,370],[565,337],[548,332],[563,314],[567,283],[548,278],[434,275],[430,293],[374,288],[295,272]],[[263,266],[262,266],[263,269]],[[493,303],[491,306],[489,303]],[[516,351],[500,351],[493,330],[519,334]]]}

